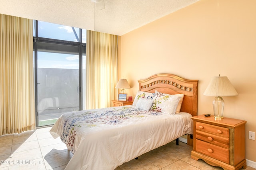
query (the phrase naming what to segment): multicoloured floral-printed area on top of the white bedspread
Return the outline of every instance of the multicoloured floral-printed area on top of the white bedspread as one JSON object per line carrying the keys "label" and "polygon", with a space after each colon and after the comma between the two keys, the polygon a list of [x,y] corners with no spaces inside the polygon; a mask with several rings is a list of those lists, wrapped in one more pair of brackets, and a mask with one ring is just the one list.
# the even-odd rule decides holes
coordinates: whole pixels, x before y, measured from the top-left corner
{"label": "multicoloured floral-printed area on top of the white bedspread", "polygon": [[[90,128],[98,129],[100,127],[115,127],[116,125],[126,124],[132,121],[140,121],[145,117],[155,117],[156,115],[162,115],[158,111],[144,111],[142,109],[136,109],[135,107],[109,107],[98,110],[85,110],[68,113],[62,115],[65,117],[62,135],[60,139],[66,144],[68,149],[74,153],[74,141],[76,140],[76,133],[78,129]],[[88,130],[85,133],[89,133]]]}

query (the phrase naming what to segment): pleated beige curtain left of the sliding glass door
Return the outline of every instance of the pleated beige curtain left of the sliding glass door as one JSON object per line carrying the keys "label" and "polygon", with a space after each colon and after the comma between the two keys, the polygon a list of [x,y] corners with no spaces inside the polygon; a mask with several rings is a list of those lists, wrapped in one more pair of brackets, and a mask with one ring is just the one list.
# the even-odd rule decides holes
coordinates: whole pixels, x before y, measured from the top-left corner
{"label": "pleated beige curtain left of the sliding glass door", "polygon": [[32,20],[0,14],[0,135],[35,129]]}

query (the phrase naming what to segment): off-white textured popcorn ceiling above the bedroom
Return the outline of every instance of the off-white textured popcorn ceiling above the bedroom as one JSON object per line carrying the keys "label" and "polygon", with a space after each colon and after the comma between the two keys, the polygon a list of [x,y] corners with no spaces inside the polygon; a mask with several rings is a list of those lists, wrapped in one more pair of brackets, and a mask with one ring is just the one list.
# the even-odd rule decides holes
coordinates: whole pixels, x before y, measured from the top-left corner
{"label": "off-white textured popcorn ceiling above the bedroom", "polygon": [[0,13],[124,35],[199,0],[0,0]]}

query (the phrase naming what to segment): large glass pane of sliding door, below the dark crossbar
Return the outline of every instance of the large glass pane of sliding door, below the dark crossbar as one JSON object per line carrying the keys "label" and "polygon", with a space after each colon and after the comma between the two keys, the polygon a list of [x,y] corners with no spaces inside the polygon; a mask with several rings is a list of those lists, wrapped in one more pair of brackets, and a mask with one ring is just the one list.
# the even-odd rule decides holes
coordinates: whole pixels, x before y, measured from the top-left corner
{"label": "large glass pane of sliding door, below the dark crossbar", "polygon": [[65,112],[79,110],[77,54],[37,53],[38,126],[52,125]]}

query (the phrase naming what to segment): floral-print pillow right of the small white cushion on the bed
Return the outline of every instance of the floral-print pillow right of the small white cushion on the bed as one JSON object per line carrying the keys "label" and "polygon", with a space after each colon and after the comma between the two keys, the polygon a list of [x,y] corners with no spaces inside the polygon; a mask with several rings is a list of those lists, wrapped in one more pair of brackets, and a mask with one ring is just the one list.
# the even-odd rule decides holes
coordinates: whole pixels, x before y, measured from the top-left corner
{"label": "floral-print pillow right of the small white cushion on the bed", "polygon": [[179,101],[180,96],[162,94],[158,92],[151,109],[154,111],[160,111],[162,113],[174,115],[176,113]]}

